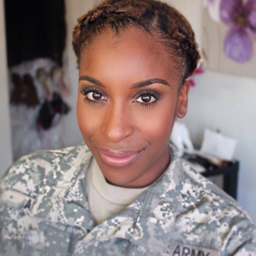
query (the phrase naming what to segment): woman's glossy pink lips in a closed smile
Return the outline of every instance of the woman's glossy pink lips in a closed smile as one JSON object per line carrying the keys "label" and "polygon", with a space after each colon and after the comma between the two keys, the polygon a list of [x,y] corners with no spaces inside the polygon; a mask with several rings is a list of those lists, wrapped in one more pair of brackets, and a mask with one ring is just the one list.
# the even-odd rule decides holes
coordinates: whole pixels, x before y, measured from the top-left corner
{"label": "woman's glossy pink lips in a closed smile", "polygon": [[107,165],[122,167],[129,165],[139,156],[142,150],[105,150],[99,149],[101,159]]}

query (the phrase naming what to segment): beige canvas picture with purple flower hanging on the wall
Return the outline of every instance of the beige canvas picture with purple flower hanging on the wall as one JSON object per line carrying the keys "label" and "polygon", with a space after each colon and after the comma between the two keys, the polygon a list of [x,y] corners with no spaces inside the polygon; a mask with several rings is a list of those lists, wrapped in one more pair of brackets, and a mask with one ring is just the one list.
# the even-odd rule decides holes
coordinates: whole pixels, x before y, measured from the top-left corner
{"label": "beige canvas picture with purple flower hanging on the wall", "polygon": [[205,0],[203,67],[256,78],[256,0]]}

